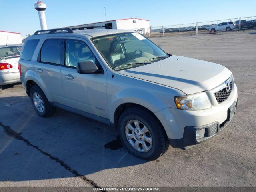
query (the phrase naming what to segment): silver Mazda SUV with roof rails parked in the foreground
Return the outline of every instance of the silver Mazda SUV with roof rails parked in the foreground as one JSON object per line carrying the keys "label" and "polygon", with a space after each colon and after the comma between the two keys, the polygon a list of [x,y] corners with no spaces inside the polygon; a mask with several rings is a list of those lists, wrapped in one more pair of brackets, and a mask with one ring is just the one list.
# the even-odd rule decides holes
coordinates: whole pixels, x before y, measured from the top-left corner
{"label": "silver Mazda SUV with roof rails parked in the foreground", "polygon": [[21,81],[36,113],[56,107],[110,124],[134,155],[190,148],[230,122],[237,87],[219,64],[166,53],[137,32],[38,31],[26,39]]}

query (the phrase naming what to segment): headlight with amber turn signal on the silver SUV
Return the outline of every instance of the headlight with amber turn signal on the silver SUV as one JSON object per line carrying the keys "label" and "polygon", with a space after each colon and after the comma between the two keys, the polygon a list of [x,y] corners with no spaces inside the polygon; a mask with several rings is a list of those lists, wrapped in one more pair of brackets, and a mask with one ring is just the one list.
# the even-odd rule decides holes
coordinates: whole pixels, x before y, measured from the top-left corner
{"label": "headlight with amber turn signal on the silver SUV", "polygon": [[205,92],[188,96],[177,96],[174,98],[178,109],[202,110],[212,107],[212,104]]}

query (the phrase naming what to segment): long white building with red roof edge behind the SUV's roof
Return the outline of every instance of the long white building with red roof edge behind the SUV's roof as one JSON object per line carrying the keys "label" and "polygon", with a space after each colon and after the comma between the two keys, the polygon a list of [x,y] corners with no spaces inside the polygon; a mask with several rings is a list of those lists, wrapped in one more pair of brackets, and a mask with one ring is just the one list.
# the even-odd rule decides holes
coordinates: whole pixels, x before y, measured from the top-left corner
{"label": "long white building with red roof edge behind the SUV's roof", "polygon": [[150,21],[138,18],[118,19],[97,23],[70,26],[66,28],[79,29],[90,26],[105,26],[109,29],[142,30],[144,34],[150,33]]}

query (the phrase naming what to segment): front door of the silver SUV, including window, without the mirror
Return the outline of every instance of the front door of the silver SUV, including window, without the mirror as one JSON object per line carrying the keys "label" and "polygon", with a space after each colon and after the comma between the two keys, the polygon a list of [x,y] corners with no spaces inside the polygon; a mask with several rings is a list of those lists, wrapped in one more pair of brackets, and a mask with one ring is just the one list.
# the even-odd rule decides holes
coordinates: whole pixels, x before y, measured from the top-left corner
{"label": "front door of the silver SUV, including window, without the mirror", "polygon": [[[82,39],[65,40],[65,65],[61,68],[66,105],[97,116],[107,116],[106,72]],[[102,71],[101,74],[79,74],[76,65],[81,61],[92,61]]]}

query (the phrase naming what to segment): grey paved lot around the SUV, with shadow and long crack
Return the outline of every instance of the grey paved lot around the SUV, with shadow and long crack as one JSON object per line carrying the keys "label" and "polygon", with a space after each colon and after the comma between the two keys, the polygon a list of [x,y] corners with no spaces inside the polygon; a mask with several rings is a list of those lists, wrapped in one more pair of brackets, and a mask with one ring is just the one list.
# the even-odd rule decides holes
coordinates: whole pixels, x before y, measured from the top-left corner
{"label": "grey paved lot around the SUV, with shadow and long crack", "polygon": [[60,109],[41,118],[20,84],[4,86],[0,186],[256,186],[256,30],[151,40],[233,72],[238,111],[225,130],[148,162],[122,146],[112,150],[118,132],[109,126]]}

